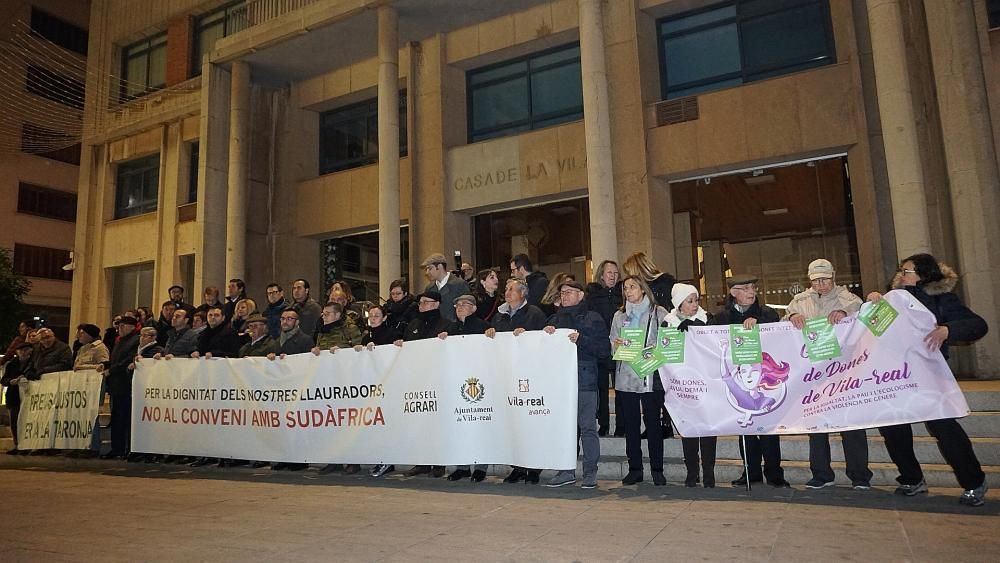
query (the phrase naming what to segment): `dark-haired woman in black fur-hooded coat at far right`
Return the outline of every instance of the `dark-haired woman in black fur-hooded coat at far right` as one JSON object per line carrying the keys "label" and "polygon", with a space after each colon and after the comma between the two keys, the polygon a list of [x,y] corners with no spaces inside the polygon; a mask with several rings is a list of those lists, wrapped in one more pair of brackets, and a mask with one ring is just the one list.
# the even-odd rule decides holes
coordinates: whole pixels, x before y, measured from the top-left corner
{"label": "dark-haired woman in black fur-hooded coat at far right", "polygon": [[[958,274],[945,264],[941,264],[930,254],[914,254],[904,259],[892,289],[910,292],[917,301],[927,307],[937,319],[937,326],[924,338],[931,351],[941,350],[948,357],[948,345],[956,342],[973,342],[986,335],[989,328],[982,317],[975,314],[953,292],[958,284]],[[868,294],[869,301],[878,301],[882,295],[877,291]],[[959,502],[968,506],[982,506],[986,503],[986,474],[972,449],[968,434],[954,418],[928,420],[924,423],[927,431],[937,440],[938,449],[944,457],[958,483],[965,489]],[[913,453],[913,429],[909,424],[898,424],[879,428],[885,438],[885,448],[889,451],[899,477],[896,492],[915,496],[927,492],[920,462]]]}

